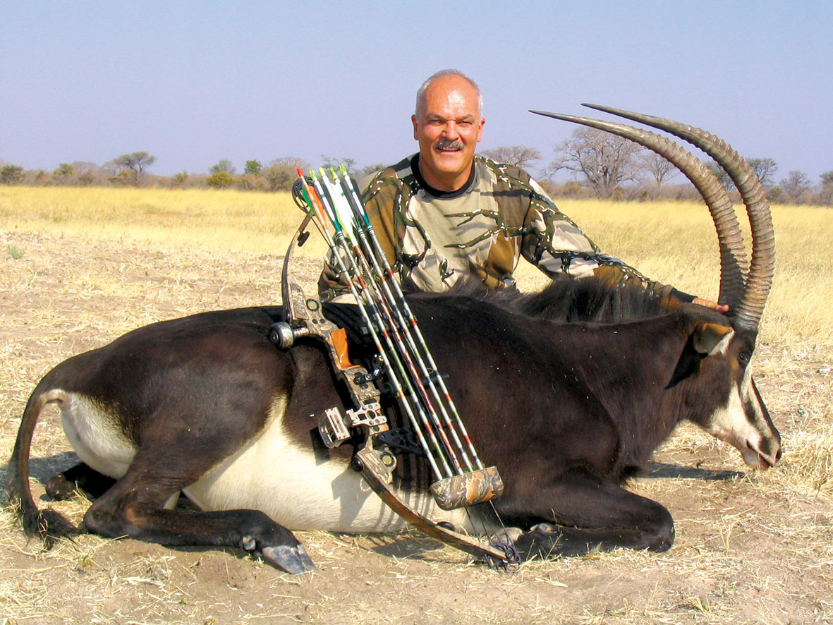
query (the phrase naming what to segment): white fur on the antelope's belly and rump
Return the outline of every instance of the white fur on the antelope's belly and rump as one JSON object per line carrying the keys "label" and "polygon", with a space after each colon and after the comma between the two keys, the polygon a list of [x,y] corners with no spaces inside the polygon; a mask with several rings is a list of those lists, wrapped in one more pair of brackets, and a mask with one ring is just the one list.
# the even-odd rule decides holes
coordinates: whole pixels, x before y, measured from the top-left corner
{"label": "white fur on the antelope's belly and rump", "polygon": [[[82,395],[49,394],[49,401],[61,406],[63,428],[78,458],[98,473],[122,478],[137,450],[117,419]],[[284,403],[276,402],[262,433],[182,492],[203,510],[261,510],[295,530],[397,532],[407,527],[347,463],[322,461],[312,445],[294,443],[283,430],[283,410]],[[436,522],[468,532],[493,529],[479,522],[474,527],[464,509],[442,510],[428,493],[399,495]]]}

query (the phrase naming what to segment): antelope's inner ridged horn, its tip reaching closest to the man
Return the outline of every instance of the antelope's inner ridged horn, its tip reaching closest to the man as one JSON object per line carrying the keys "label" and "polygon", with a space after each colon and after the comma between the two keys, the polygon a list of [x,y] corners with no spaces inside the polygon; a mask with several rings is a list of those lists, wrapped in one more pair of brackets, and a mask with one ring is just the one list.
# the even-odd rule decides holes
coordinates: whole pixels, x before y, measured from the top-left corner
{"label": "antelope's inner ridged horn, its tip reaching closest to the man", "polygon": [[733,311],[741,306],[746,291],[744,280],[746,248],[743,243],[741,227],[737,222],[735,208],[732,207],[726,189],[698,158],[695,158],[685,148],[671,140],[641,128],[632,128],[617,122],[604,122],[590,117],[561,115],[554,112],[531,112],[546,117],[555,117],[566,122],[580,123],[631,139],[631,141],[639,143],[666,158],[684,173],[706,201],[706,206],[708,206],[711,218],[715,223],[721,254],[721,287],[718,301],[729,304]]}

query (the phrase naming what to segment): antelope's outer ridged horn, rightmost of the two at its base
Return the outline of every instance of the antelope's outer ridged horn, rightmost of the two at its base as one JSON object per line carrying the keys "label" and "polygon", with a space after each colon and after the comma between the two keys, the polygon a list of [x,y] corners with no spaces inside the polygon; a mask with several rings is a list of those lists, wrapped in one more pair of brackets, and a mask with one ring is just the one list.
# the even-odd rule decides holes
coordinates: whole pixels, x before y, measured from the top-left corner
{"label": "antelope's outer ridged horn, rightmost of the two at its base", "polygon": [[729,174],[729,178],[741,193],[752,233],[752,258],[746,278],[746,293],[736,310],[736,318],[744,327],[757,329],[764,312],[766,297],[770,292],[772,274],[775,272],[775,231],[772,228],[770,205],[766,201],[764,188],[749,164],[728,143],[701,128],[664,117],[643,115],[598,104],[584,106],[665,130],[703,150]]}

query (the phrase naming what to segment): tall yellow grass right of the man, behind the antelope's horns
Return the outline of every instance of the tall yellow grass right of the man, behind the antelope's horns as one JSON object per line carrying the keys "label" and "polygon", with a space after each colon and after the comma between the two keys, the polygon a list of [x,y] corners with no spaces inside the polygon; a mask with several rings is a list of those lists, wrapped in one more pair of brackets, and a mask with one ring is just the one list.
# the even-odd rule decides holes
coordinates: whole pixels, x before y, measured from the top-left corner
{"label": "tall yellow grass right of the man, behind the antelope's horns", "polygon": [[[704,298],[717,297],[717,238],[703,204],[567,199],[558,204],[602,250],[648,278]],[[739,218],[742,226],[744,216]],[[776,205],[772,219],[776,274],[761,340],[831,346],[833,257],[828,250],[833,242],[833,209]],[[525,287],[544,283],[534,269],[524,268],[520,275]]]}

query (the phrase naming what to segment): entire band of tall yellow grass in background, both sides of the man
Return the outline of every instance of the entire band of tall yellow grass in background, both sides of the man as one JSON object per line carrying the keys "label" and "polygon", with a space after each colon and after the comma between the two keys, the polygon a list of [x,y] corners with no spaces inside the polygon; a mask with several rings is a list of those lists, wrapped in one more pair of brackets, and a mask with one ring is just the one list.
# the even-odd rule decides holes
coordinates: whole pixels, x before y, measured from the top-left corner
{"label": "entire band of tall yellow grass in background, both sides of the man", "polygon": [[[562,200],[606,253],[686,293],[716,298],[714,228],[695,202]],[[762,340],[833,344],[833,209],[774,206],[777,266]],[[741,215],[741,223],[742,223]],[[302,213],[288,193],[162,188],[0,188],[0,228],[282,254]],[[318,236],[300,254],[322,258]],[[525,263],[524,263],[525,264]],[[546,279],[521,267],[521,288]]]}

